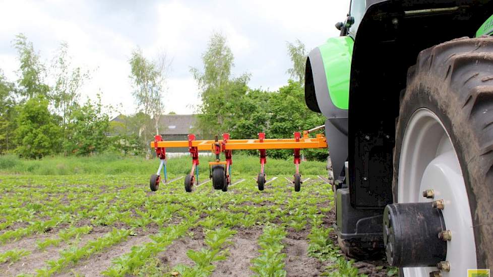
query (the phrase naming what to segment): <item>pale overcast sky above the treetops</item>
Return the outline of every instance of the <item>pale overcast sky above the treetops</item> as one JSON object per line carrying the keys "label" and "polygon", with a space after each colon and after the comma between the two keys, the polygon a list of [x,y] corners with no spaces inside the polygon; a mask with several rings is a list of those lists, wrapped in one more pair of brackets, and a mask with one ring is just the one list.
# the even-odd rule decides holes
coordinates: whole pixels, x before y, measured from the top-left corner
{"label": "pale overcast sky above the treetops", "polygon": [[19,61],[12,40],[24,33],[48,62],[66,41],[73,62],[92,71],[83,99],[102,93],[104,104],[134,113],[128,63],[139,46],[154,58],[172,59],[164,94],[166,113],[193,113],[200,103],[190,66],[202,68],[201,54],[213,31],[227,37],[233,73],[249,72],[251,88],[276,90],[291,66],[286,41],[307,49],[337,36],[334,24],[347,14],[349,0],[324,1],[102,1],[0,0],[0,68],[16,80]]}

